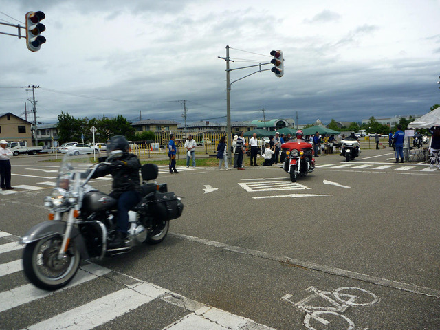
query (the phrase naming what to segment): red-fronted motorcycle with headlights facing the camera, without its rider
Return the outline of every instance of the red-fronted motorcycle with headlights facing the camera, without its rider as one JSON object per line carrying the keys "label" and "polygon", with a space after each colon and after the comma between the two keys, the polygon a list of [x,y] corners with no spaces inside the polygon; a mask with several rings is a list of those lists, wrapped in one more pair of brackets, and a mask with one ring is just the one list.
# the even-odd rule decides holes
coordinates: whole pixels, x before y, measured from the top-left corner
{"label": "red-fronted motorcycle with headlights facing the camera, without its rider", "polygon": [[286,142],[281,145],[283,170],[290,174],[290,180],[296,182],[298,175],[305,177],[315,170],[313,146],[309,142]]}

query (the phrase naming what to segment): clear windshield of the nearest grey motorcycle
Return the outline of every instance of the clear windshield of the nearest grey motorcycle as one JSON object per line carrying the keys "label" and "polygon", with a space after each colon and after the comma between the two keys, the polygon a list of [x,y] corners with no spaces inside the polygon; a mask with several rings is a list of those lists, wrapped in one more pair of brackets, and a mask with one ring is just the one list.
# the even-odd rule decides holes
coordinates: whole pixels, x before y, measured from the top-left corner
{"label": "clear windshield of the nearest grey motorcycle", "polygon": [[64,190],[72,190],[74,186],[85,184],[89,168],[95,163],[93,156],[75,155],[73,152],[67,151],[58,170],[56,186]]}

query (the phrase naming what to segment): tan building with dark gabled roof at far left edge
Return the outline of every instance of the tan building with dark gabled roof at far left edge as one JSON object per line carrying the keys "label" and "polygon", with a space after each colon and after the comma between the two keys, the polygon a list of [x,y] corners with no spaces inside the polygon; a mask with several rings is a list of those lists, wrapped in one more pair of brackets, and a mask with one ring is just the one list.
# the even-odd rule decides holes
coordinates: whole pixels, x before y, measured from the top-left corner
{"label": "tan building with dark gabled roof at far left edge", "polygon": [[32,124],[10,112],[0,114],[0,140],[26,141],[32,145]]}

